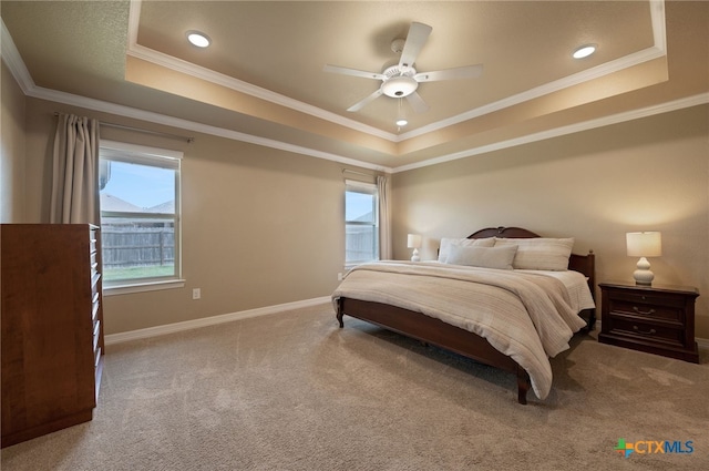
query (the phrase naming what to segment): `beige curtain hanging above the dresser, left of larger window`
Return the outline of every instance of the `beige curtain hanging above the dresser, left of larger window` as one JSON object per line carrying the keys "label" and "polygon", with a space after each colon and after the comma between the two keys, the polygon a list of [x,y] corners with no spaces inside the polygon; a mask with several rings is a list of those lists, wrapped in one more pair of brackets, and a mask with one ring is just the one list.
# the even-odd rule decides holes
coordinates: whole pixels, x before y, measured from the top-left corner
{"label": "beige curtain hanging above the dresser, left of larger window", "polygon": [[54,135],[50,222],[97,225],[97,181],[99,121],[60,114]]}

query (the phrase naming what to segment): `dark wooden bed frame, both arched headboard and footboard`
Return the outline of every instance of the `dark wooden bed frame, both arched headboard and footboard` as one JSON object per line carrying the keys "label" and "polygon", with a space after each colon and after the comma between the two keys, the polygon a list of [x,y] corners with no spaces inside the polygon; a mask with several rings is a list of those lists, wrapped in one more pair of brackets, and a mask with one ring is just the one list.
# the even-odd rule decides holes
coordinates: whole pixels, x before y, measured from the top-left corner
{"label": "dark wooden bed frame, both arched headboard and footboard", "polygon": [[[531,238],[540,237],[540,235],[520,227],[490,227],[477,231],[467,238],[485,237]],[[587,255],[572,254],[568,260],[568,268],[580,272],[587,277],[590,293],[595,297],[595,255],[593,250]],[[346,314],[418,339],[424,344],[435,345],[475,361],[510,371],[517,377],[517,401],[522,405],[527,403],[526,397],[531,386],[528,373],[511,357],[497,351],[487,340],[476,334],[451,326],[421,313],[381,303],[341,297],[338,300],[337,309],[337,320],[340,324],[340,328],[345,327],[342,316]],[[587,309],[584,314],[588,316],[587,328],[593,329],[596,320],[595,309]]]}

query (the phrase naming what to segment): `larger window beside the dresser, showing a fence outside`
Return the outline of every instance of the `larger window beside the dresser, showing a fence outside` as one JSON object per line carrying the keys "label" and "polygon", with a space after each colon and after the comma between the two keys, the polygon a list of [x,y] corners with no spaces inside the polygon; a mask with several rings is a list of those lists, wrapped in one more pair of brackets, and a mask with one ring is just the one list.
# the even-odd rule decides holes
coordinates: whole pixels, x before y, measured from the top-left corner
{"label": "larger window beside the dresser, showing a fence outside", "polygon": [[101,142],[104,287],[179,278],[181,152]]}

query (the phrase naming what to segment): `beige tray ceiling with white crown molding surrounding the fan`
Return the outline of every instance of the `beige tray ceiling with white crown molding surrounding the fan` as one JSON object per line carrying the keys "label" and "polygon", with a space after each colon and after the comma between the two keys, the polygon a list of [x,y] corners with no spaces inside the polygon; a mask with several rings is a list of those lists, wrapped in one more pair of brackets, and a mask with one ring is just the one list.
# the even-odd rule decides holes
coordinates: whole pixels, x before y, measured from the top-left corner
{"label": "beige tray ceiling with white crown molding surrounding the fan", "polygon": [[[702,2],[3,0],[0,8],[38,88],[388,168],[709,88]],[[391,42],[412,21],[432,27],[418,71],[482,64],[483,74],[421,83],[429,110],[403,101],[402,129],[393,123],[397,99],[346,111],[381,82],[323,65],[379,73],[398,62]],[[188,30],[212,45],[188,44]],[[584,43],[598,52],[572,59]]]}

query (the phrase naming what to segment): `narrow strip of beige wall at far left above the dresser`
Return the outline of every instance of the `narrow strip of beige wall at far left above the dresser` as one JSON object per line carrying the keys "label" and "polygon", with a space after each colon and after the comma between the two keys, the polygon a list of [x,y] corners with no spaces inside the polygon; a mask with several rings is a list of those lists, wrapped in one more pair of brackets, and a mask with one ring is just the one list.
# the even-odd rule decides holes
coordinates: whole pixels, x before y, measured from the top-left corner
{"label": "narrow strip of beige wall at far left above the dresser", "polygon": [[24,94],[2,62],[0,223],[24,222]]}

